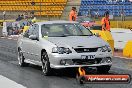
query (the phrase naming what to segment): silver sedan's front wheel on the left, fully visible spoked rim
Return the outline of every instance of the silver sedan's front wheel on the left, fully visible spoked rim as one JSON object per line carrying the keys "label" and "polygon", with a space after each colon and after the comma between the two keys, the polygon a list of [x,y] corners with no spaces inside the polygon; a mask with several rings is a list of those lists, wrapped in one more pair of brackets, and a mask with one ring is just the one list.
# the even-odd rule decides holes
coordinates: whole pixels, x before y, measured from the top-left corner
{"label": "silver sedan's front wheel on the left, fully visible spoked rim", "polygon": [[51,74],[50,62],[47,52],[43,52],[41,55],[42,71],[45,76]]}

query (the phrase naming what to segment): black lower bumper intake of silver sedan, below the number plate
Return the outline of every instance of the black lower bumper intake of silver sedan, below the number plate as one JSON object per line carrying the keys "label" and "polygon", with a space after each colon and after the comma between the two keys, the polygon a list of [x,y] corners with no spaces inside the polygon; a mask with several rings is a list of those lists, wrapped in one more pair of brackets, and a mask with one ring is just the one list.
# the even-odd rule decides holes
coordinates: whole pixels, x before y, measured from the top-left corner
{"label": "black lower bumper intake of silver sedan, below the number plate", "polygon": [[95,58],[93,60],[89,59],[72,59],[73,63],[76,65],[88,65],[88,64],[99,64],[102,58]]}

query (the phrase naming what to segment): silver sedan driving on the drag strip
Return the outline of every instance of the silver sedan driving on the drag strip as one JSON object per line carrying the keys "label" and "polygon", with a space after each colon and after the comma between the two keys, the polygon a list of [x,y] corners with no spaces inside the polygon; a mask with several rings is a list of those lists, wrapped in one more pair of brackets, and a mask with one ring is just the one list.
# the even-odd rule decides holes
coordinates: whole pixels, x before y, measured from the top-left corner
{"label": "silver sedan driving on the drag strip", "polygon": [[78,22],[38,22],[18,39],[20,66],[40,65],[45,75],[52,69],[73,67],[97,67],[99,72],[108,72],[111,59],[109,44]]}

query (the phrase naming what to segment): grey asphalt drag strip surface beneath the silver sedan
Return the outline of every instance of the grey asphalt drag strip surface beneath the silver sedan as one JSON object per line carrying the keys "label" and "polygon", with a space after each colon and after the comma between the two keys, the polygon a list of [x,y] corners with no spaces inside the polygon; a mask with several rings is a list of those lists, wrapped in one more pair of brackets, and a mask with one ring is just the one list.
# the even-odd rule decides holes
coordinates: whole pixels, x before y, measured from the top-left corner
{"label": "grey asphalt drag strip surface beneath the silver sedan", "polygon": [[[51,76],[44,76],[40,66],[20,67],[17,60],[17,41],[0,39],[0,76],[26,88],[132,88],[129,84],[83,84],[76,81],[72,70],[55,70]],[[108,74],[130,74],[132,60],[113,58]],[[76,73],[75,73],[76,74]],[[87,69],[87,74],[96,74],[96,69]],[[0,83],[1,84],[1,83]],[[3,83],[4,84],[4,83]],[[0,85],[0,88],[2,86]]]}

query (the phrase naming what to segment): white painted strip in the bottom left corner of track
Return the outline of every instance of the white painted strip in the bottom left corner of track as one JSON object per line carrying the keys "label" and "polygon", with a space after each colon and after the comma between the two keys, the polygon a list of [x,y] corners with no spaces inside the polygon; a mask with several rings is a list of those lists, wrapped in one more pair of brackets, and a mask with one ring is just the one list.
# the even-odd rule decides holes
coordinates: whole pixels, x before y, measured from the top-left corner
{"label": "white painted strip in the bottom left corner of track", "polygon": [[0,75],[0,88],[26,88],[26,87]]}

